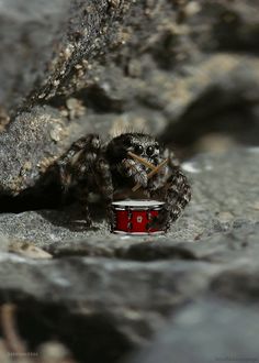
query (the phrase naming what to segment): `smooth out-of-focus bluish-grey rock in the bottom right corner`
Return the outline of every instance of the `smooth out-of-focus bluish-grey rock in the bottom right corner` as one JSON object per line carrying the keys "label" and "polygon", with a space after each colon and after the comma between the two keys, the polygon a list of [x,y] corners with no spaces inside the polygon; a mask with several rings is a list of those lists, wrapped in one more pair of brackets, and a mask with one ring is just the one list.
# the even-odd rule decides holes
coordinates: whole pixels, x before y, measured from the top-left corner
{"label": "smooth out-of-focus bluish-grey rock in the bottom right corner", "polygon": [[131,363],[256,361],[258,311],[224,300],[200,300],[172,317]]}

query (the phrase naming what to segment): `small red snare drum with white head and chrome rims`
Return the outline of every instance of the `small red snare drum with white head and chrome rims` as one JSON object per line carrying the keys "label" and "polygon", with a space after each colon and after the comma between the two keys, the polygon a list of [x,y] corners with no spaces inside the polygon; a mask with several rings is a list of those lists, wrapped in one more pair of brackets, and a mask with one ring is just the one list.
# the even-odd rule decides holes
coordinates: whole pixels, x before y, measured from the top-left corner
{"label": "small red snare drum with white head and chrome rims", "polygon": [[121,234],[161,234],[162,230],[148,228],[165,205],[157,200],[120,200],[112,204],[112,232]]}

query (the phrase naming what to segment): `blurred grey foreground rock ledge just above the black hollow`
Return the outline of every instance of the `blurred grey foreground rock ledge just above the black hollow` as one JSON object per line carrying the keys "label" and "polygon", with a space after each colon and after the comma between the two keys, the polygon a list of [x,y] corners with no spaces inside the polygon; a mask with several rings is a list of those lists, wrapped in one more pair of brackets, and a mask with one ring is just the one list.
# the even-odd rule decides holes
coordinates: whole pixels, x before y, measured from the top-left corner
{"label": "blurred grey foreground rock ledge just above the black hollow", "polygon": [[218,273],[217,265],[203,262],[33,261],[10,253],[0,258],[1,301],[24,309],[58,306],[82,319],[102,316],[131,344],[143,344],[168,311],[201,295]]}

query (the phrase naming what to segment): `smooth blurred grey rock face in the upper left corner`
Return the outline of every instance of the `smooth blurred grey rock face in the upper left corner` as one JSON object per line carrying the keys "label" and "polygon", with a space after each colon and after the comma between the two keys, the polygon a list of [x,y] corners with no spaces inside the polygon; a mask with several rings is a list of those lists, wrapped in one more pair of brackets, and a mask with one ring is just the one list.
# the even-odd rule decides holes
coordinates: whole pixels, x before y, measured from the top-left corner
{"label": "smooth blurred grey rock face in the upper left corner", "polygon": [[69,1],[3,0],[0,4],[0,105],[9,110],[44,75],[54,43],[61,37]]}

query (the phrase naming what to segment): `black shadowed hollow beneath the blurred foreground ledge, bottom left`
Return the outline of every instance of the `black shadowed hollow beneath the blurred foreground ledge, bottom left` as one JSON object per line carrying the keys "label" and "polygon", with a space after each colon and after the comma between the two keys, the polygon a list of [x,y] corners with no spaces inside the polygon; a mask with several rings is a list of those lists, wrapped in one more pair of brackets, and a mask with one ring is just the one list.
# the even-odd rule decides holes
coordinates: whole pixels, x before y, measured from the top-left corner
{"label": "black shadowed hollow beneath the blurred foreground ledge, bottom left", "polygon": [[78,363],[115,363],[133,348],[105,314],[83,316],[55,302],[41,304],[24,297],[18,305],[15,321],[31,352],[55,340],[64,343]]}

